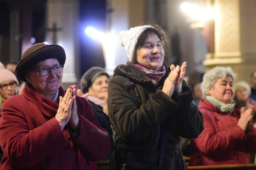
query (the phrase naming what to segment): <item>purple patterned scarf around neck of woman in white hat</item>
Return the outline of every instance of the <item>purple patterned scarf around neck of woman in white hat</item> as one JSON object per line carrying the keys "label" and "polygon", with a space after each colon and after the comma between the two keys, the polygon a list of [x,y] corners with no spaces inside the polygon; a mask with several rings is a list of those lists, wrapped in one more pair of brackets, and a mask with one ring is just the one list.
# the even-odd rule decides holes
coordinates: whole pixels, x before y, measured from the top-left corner
{"label": "purple patterned scarf around neck of woman in white hat", "polygon": [[139,64],[134,64],[137,68],[142,70],[148,78],[150,78],[151,82],[155,85],[155,87],[158,86],[161,78],[165,75],[165,66],[162,65],[158,71],[147,69],[142,67]]}

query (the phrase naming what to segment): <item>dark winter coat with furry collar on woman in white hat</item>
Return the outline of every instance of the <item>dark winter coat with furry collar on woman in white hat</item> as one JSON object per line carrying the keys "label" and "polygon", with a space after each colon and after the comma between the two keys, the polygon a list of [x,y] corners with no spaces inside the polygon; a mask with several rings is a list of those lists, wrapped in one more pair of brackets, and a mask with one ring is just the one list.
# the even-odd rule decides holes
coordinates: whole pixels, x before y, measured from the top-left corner
{"label": "dark winter coat with furry collar on woman in white hat", "polygon": [[180,136],[198,137],[203,131],[203,118],[192,103],[192,90],[185,81],[182,92],[171,98],[161,90],[170,71],[164,65],[166,74],[157,89],[144,72],[130,62],[114,70],[108,86],[108,109],[116,131],[116,144],[109,169],[115,164],[119,170],[129,160],[151,162],[159,169],[163,134],[167,134],[167,142],[164,142],[160,169],[187,169],[179,145]]}

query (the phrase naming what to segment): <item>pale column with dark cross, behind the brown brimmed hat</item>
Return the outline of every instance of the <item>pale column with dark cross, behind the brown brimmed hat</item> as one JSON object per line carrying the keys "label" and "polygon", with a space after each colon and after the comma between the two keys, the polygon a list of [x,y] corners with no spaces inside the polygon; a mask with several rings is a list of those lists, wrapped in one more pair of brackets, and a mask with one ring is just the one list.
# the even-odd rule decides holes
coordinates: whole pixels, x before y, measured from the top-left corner
{"label": "pale column with dark cross, behind the brown brimmed hat", "polygon": [[76,84],[75,64],[78,55],[77,28],[79,26],[79,0],[48,0],[46,11],[46,41],[58,44],[66,52],[66,63],[63,71],[62,86]]}

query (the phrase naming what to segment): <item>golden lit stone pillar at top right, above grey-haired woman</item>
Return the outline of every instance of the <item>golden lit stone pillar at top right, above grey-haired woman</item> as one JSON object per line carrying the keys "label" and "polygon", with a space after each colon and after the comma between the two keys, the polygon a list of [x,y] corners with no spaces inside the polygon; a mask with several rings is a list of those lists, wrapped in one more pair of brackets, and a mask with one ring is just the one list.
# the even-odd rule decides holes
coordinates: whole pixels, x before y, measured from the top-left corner
{"label": "golden lit stone pillar at top right, above grey-haired woman", "polygon": [[209,50],[203,65],[206,71],[230,66],[238,74],[236,81],[248,81],[250,72],[256,70],[256,1],[215,0],[212,7],[215,18],[208,23],[205,36],[214,50]]}

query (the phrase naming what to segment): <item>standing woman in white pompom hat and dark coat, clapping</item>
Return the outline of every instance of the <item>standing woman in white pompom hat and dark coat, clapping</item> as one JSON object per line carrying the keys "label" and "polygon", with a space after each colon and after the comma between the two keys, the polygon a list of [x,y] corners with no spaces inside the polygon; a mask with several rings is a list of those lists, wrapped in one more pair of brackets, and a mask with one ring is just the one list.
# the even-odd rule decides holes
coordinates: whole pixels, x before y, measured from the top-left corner
{"label": "standing woman in white pompom hat and dark coat, clapping", "polygon": [[187,169],[180,136],[196,138],[202,114],[183,81],[187,63],[163,63],[165,31],[154,24],[119,33],[129,62],[114,70],[108,86],[108,109],[116,131],[109,169]]}

